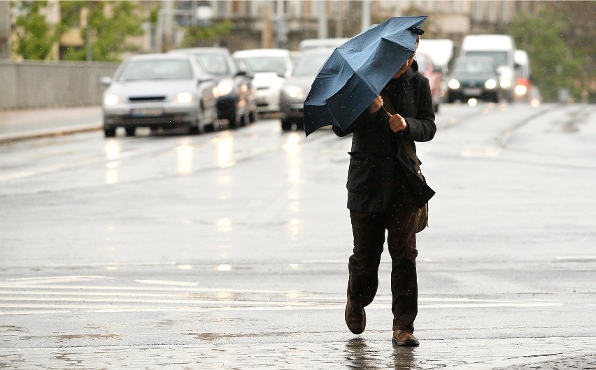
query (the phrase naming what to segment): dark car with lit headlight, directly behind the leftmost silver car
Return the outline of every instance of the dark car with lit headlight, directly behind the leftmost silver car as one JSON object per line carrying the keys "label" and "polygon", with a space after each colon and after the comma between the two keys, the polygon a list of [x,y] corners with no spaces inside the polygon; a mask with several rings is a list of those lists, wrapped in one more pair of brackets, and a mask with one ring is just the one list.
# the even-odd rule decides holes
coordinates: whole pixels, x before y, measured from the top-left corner
{"label": "dark car with lit headlight, directly behind the leftmost silver car", "polygon": [[215,77],[218,118],[230,127],[240,127],[256,120],[256,97],[248,72],[240,69],[227,48],[187,48],[170,50],[195,55],[208,73]]}

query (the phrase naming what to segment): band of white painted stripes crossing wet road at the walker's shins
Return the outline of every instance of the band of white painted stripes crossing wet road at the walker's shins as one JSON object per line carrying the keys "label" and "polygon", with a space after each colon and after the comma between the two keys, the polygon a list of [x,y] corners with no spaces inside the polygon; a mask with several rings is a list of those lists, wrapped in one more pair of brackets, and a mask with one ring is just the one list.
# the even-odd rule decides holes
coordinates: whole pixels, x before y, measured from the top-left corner
{"label": "band of white painted stripes crossing wet road at the walker's shins", "polygon": [[[80,277],[71,277],[80,278]],[[87,277],[89,278],[89,277]],[[313,294],[283,290],[201,289],[195,287],[123,287],[83,285],[36,285],[48,279],[26,279],[2,283],[0,287],[0,315],[67,313],[71,310],[87,312],[199,312],[199,311],[285,311],[285,310],[342,310],[344,297],[340,294]],[[57,278],[50,280],[59,280]],[[144,280],[140,280],[144,281]],[[158,284],[177,283],[159,280]],[[225,293],[225,294],[224,294]],[[200,297],[204,295],[204,297]],[[226,299],[213,299],[221,297]],[[238,294],[235,299],[232,294]],[[461,297],[420,297],[420,308],[497,308],[564,306],[555,301],[468,299]],[[376,297],[371,309],[390,307],[390,295]]]}

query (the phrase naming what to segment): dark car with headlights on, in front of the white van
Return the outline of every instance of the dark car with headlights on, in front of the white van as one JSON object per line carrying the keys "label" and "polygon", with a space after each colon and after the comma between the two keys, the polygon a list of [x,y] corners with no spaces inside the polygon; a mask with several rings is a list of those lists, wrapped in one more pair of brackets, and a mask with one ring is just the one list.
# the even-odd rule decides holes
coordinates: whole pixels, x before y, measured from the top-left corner
{"label": "dark car with headlights on, in front of the white van", "polygon": [[475,98],[499,102],[499,72],[490,57],[459,57],[448,78],[447,101]]}

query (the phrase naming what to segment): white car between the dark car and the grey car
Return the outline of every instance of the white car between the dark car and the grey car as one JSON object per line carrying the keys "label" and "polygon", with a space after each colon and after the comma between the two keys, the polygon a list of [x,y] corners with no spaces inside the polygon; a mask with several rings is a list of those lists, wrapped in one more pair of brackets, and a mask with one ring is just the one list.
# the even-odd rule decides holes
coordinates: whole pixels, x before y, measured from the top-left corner
{"label": "white car between the dark car and the grey car", "polygon": [[257,89],[257,113],[279,112],[281,86],[292,71],[290,50],[239,50],[232,57],[253,74],[253,87]]}

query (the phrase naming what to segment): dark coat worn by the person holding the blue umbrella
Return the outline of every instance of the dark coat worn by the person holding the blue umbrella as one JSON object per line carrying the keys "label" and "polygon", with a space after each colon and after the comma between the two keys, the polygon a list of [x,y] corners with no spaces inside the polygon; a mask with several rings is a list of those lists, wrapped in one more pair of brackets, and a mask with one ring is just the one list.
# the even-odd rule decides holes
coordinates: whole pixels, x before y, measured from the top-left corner
{"label": "dark coat worn by the person holding the blue umbrella", "polygon": [[[353,134],[348,170],[348,208],[357,212],[385,212],[389,206],[392,180],[405,176],[411,185],[418,207],[423,207],[434,191],[416,174],[413,159],[404,145],[414,141],[430,141],[437,127],[434,124],[432,96],[427,78],[418,72],[418,64],[390,80],[382,92],[390,97],[395,111],[408,123],[405,132],[393,132],[381,108],[374,115],[366,109],[346,130],[333,127],[337,136]],[[386,106],[386,104],[385,104]],[[415,159],[420,164],[420,159]]]}

